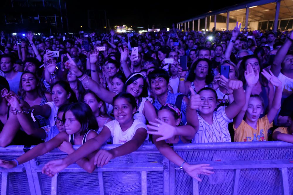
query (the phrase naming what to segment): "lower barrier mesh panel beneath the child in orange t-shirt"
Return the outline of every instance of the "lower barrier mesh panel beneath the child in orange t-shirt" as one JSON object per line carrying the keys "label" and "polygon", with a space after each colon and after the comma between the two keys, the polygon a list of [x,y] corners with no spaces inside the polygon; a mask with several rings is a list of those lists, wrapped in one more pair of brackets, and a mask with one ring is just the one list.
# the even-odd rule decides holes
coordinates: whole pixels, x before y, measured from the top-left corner
{"label": "lower barrier mesh panel beneath the child in orange t-shirt", "polygon": [[282,194],[281,173],[277,168],[241,169],[237,194]]}

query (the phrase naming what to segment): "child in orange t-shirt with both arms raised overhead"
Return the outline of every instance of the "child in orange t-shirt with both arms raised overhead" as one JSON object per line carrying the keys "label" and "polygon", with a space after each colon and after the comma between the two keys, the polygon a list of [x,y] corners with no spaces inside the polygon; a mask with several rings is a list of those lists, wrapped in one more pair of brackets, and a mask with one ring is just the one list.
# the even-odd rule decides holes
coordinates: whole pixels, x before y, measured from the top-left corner
{"label": "child in orange t-shirt with both arms raised overhead", "polygon": [[[272,121],[281,107],[282,82],[271,71],[268,73],[263,70],[262,75],[276,87],[276,92],[272,108],[267,115],[259,118],[263,113],[263,99],[259,95],[251,95],[259,79],[259,70],[252,66],[255,64],[249,63],[244,73],[247,83],[246,104],[234,120],[234,141],[268,141],[268,130],[272,127]],[[244,116],[245,120],[243,120]]]}

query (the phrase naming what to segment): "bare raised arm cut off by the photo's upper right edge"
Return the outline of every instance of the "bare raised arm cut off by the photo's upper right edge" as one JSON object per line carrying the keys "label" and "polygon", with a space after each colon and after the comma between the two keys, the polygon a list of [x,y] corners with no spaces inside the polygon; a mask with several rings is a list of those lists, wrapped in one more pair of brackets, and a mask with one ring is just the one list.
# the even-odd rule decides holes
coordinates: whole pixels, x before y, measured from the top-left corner
{"label": "bare raised arm cut off by the photo's upper right edge", "polygon": [[292,41],[293,41],[293,33],[290,34],[289,39],[286,39],[285,43],[277,51],[277,54],[274,58],[272,66],[271,66],[271,71],[276,77],[278,77],[281,72],[282,61],[284,60],[287,52],[289,51],[289,49],[292,45]]}

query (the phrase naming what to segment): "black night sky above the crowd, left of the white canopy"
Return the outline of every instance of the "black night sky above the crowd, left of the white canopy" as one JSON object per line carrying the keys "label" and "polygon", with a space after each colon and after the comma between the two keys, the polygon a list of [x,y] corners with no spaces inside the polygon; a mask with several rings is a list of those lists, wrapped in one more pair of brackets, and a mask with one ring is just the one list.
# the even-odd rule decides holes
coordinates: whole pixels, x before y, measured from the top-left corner
{"label": "black night sky above the crowd, left of the white canopy", "polygon": [[[151,28],[152,25],[155,25],[155,27],[171,27],[172,23],[180,22],[208,11],[217,10],[245,1],[240,0],[236,3],[236,1],[205,0],[204,4],[208,6],[197,5],[197,2],[199,1],[181,1],[184,3],[182,6],[180,6],[180,4],[174,3],[166,3],[163,5],[158,4],[155,1],[147,0],[135,2],[121,1],[121,5],[117,4],[116,2],[117,1],[113,1],[113,4],[110,4],[101,3],[100,1],[93,2],[88,0],[79,2],[67,1],[67,13],[71,28],[76,29],[80,25],[85,27],[87,26],[87,10],[92,10],[91,18],[96,18],[97,21],[96,25],[93,26],[97,26],[97,28],[105,25],[104,10],[106,10],[106,15],[110,20],[111,27],[114,25],[132,25],[134,27],[143,26],[145,28]],[[78,11],[76,8],[78,8]],[[94,20],[91,20],[91,22],[92,24],[95,23]]]}

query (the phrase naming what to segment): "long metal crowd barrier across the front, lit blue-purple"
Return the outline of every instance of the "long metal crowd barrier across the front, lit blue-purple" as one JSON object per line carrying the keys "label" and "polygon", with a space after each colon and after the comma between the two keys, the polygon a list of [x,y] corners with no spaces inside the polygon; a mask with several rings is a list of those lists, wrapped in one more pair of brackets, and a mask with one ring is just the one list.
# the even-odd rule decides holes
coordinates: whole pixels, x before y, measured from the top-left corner
{"label": "long metal crowd barrier across the front, lit blue-purple", "polygon": [[[79,146],[74,146],[77,149]],[[106,145],[112,149],[117,145]],[[12,160],[24,146],[0,147],[0,158]],[[0,168],[1,195],[46,194],[233,194],[289,195],[293,193],[293,144],[282,141],[174,144],[174,150],[189,163],[209,163],[215,173],[193,180],[179,170],[152,144],[111,160],[87,173],[77,164],[50,178],[41,173],[48,161],[64,158],[54,149],[13,169]]]}

